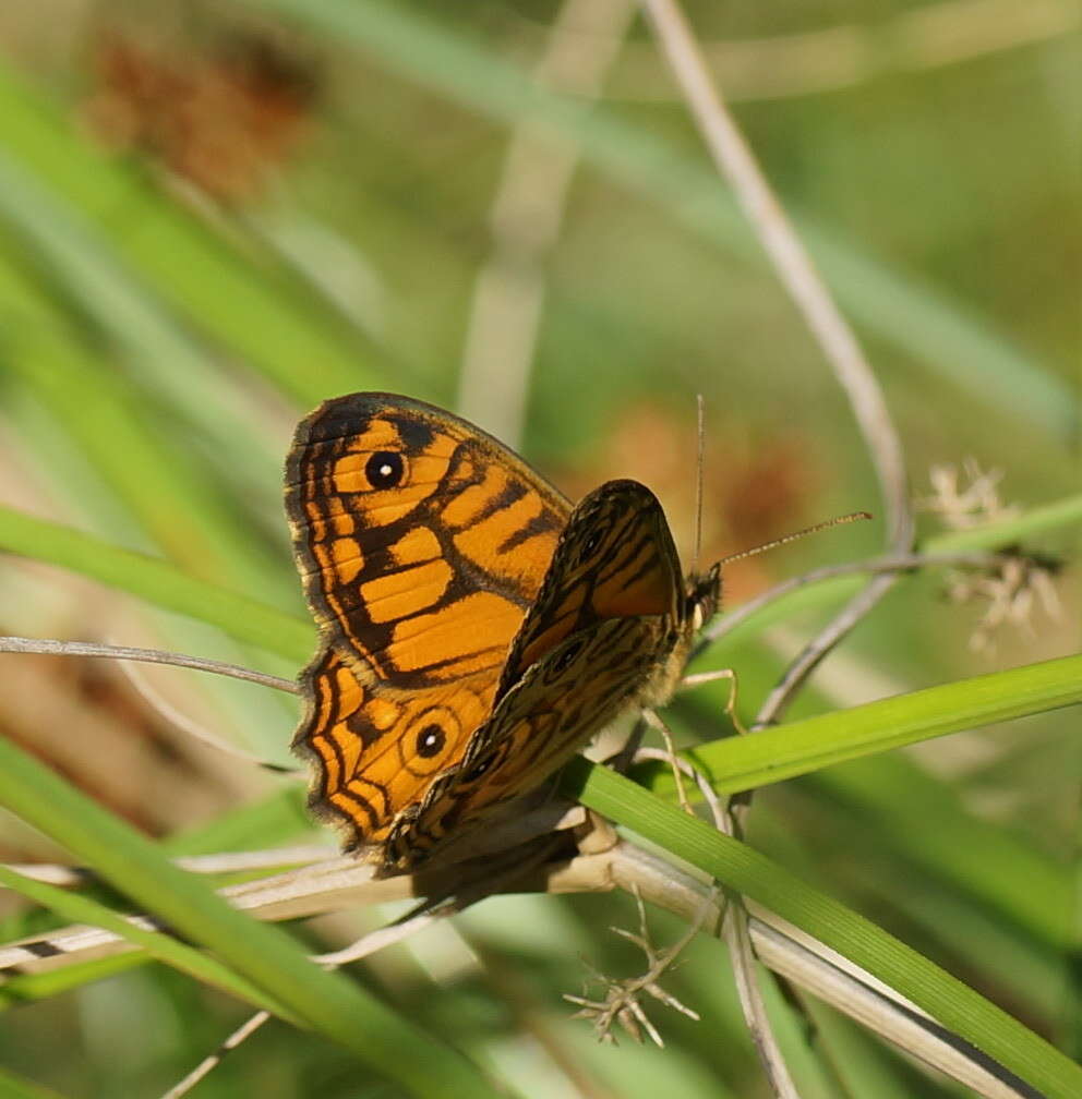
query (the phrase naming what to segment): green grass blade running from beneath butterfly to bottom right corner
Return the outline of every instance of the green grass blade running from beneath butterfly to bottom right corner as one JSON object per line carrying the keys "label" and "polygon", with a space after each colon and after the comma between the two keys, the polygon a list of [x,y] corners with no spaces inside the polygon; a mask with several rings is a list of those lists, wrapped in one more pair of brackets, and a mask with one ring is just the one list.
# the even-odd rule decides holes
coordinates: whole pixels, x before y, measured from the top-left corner
{"label": "green grass blade running from beneath butterfly to bottom right corner", "polygon": [[561,786],[568,796],[758,901],[874,974],[1050,1099],[1082,1095],[1082,1067],[916,951],[751,847],[584,759],[572,763]]}

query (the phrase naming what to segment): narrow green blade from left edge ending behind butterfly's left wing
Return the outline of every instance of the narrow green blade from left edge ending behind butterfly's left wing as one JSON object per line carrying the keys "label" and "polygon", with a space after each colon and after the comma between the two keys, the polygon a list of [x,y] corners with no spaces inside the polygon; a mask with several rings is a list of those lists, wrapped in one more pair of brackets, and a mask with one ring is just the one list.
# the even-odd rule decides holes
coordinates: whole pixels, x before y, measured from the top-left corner
{"label": "narrow green blade from left edge ending behind butterfly's left wing", "polygon": [[316,647],[314,628],[300,619],[196,580],[167,562],[13,508],[0,507],[0,550],[69,568],[298,663],[307,660]]}

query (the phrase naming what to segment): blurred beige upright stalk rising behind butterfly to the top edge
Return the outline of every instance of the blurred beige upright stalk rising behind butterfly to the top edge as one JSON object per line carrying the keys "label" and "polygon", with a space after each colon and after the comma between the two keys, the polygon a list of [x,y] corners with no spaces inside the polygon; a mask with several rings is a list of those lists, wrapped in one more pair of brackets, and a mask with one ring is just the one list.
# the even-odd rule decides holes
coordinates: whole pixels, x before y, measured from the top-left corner
{"label": "blurred beige upright stalk rising behind butterfly to the top edge", "polygon": [[[596,98],[633,0],[566,0],[537,69],[541,84]],[[511,135],[490,214],[493,251],[474,287],[459,411],[509,446],[522,431],[545,258],[560,235],[578,148],[526,116]]]}

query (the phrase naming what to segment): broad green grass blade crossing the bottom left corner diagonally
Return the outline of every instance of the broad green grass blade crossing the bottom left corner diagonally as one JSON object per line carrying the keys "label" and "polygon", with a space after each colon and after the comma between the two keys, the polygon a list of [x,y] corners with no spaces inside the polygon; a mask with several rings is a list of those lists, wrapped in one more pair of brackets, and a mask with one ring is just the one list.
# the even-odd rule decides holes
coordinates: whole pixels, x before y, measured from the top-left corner
{"label": "broad green grass blade crossing the bottom left corner diagonally", "polygon": [[177,869],[153,843],[5,741],[0,741],[0,801],[178,934],[211,950],[306,1025],[408,1094],[494,1094],[456,1051],[340,974],[312,965],[280,929],[232,909],[206,881]]}

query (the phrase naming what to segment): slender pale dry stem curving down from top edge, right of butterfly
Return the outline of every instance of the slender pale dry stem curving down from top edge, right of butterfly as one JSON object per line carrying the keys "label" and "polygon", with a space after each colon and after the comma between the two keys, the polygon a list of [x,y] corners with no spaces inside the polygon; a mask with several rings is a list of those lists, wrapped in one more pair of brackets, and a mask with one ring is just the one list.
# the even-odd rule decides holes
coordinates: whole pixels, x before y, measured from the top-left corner
{"label": "slender pale dry stem curving down from top edge, right of butterfly", "polygon": [[[642,0],[642,8],[715,164],[732,187],[779,278],[846,391],[879,478],[886,508],[888,545],[894,553],[906,553],[913,543],[913,515],[905,463],[875,375],[726,109],[678,3],[676,0]],[[879,602],[895,580],[896,577],[890,574],[874,577],[839,612],[788,668],[763,703],[757,724],[770,724],[779,719],[819,660]]]}

